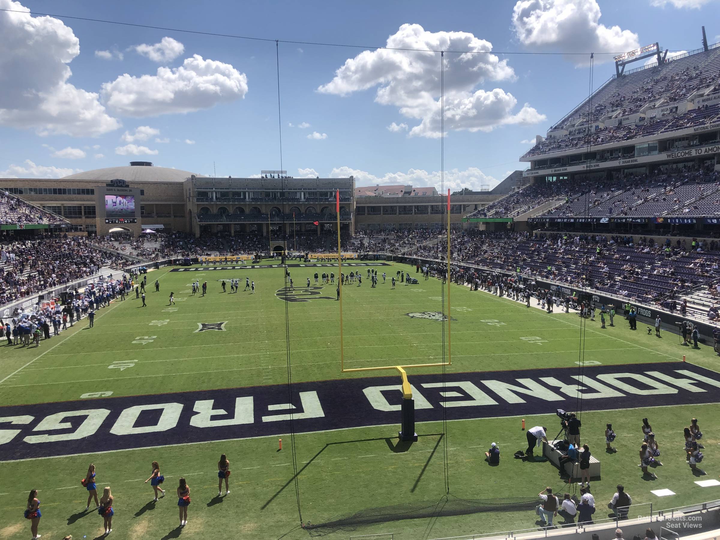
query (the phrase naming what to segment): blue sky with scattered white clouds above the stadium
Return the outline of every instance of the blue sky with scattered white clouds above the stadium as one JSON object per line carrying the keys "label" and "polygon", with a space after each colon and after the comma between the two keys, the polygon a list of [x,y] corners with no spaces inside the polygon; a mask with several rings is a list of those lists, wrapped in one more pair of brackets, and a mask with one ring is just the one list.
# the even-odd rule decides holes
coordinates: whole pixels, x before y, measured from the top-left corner
{"label": "blue sky with scattered white clouds above the stadium", "polygon": [[[271,40],[492,49],[446,55],[453,189],[492,186],[524,168],[518,156],[531,144],[522,141],[587,94],[585,57],[501,52],[620,53],[655,41],[692,50],[702,24],[709,42],[720,40],[715,0],[0,7]],[[9,12],[0,12],[0,34],[0,176],[57,178],[132,160],[198,174],[215,162],[217,176],[280,166],[274,42]],[[280,43],[279,60],[288,174],[440,187],[438,54]],[[597,64],[596,84],[613,73],[612,61]]]}

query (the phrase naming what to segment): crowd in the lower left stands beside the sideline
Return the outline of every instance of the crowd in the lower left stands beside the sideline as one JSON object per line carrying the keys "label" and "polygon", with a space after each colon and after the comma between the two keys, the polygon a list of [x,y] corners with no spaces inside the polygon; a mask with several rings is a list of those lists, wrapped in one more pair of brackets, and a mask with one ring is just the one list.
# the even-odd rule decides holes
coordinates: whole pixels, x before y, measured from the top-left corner
{"label": "crowd in the lower left stands beside the sideline", "polygon": [[78,237],[16,240],[0,247],[0,305],[123,263],[122,257],[98,251]]}

